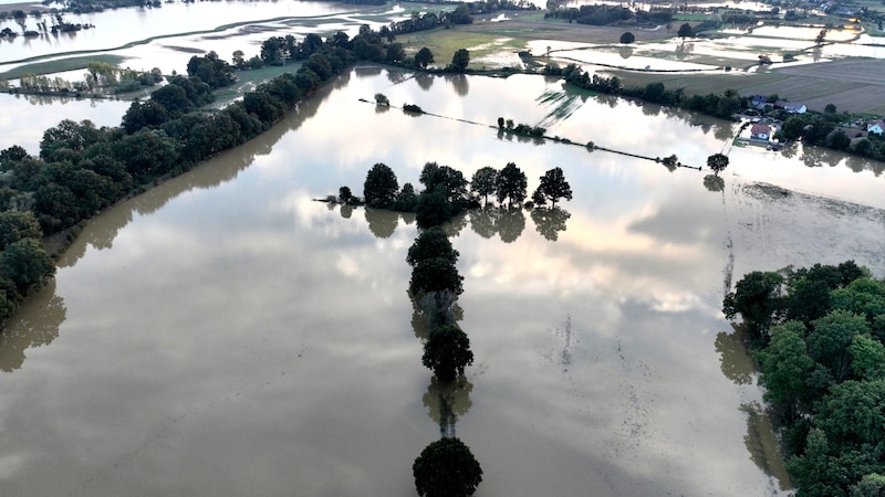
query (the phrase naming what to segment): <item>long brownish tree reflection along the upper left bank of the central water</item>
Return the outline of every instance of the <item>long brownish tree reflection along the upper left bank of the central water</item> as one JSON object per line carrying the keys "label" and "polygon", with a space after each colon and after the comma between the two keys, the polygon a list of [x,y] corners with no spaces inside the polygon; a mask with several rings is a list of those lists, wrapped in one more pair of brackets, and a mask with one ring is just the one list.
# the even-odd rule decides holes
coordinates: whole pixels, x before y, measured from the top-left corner
{"label": "long brownish tree reflection along the upper left bank of the central water", "polygon": [[283,121],[260,136],[239,147],[219,154],[190,171],[121,202],[94,218],[77,234],[71,246],[59,258],[56,265],[59,267],[73,266],[86,253],[87,245],[92,245],[97,250],[113,246],[117,233],[133,220],[133,213],[150,214],[183,193],[195,189],[216,188],[235,180],[240,171],[246,170],[254,161],[256,157],[269,155],[285,134],[296,130],[308,119],[315,116],[321,104],[325,102],[333,88],[346,86],[348,81],[350,73],[343,74],[330,85],[316,92],[311,98],[302,102],[298,109],[291,113]]}

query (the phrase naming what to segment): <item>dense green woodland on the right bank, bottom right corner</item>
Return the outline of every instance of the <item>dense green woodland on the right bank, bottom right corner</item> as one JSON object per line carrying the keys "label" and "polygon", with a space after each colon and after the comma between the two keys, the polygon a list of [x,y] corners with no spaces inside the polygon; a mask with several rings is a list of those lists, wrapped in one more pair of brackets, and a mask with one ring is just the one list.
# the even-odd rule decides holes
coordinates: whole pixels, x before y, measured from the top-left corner
{"label": "dense green woodland on the right bank, bottom right corner", "polygon": [[885,282],[853,261],[752,272],[722,310],[751,337],[798,495],[883,495]]}

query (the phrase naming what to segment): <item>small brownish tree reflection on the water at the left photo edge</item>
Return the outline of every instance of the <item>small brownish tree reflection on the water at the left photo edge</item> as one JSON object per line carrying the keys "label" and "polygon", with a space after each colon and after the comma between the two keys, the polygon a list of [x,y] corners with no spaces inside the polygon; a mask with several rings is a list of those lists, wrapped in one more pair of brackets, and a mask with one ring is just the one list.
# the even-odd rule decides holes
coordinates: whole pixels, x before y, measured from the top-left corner
{"label": "small brownish tree reflection on the water at the left photo edge", "polygon": [[24,363],[27,349],[52,343],[66,315],[64,299],[55,295],[55,281],[51,279],[7,321],[0,334],[0,369],[13,372]]}

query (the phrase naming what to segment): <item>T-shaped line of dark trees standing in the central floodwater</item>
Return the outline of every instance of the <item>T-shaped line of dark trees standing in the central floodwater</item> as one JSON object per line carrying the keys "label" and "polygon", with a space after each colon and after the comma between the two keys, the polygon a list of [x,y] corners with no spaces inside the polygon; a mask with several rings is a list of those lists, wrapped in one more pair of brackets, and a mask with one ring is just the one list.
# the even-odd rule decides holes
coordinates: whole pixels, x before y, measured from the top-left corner
{"label": "T-shaped line of dark trees standing in the central floodwater", "polygon": [[[339,189],[337,200],[416,213],[418,236],[406,255],[406,263],[412,266],[408,295],[429,328],[423,339],[421,363],[448,388],[462,379],[465,369],[473,362],[473,352],[470,338],[458,326],[460,313],[456,311],[457,299],[464,293],[464,277],[457,268],[459,253],[441,226],[458,212],[478,208],[479,198],[488,203],[488,197],[496,195],[508,208],[519,205],[525,198],[527,182],[525,175],[513,162],[501,171],[481,168],[470,182],[454,168],[427,162],[419,181],[424,186],[420,193],[415,193],[412,183],[400,189],[394,171],[378,162],[366,173],[364,200],[354,197],[348,187]],[[541,186],[532,197],[540,203],[550,200],[552,210],[558,210],[556,200],[571,199],[562,169],[551,169],[541,177]],[[445,402],[440,396],[440,403]],[[451,406],[440,405],[440,411],[451,411]],[[482,468],[470,448],[455,436],[454,421],[450,427],[444,424],[441,421],[441,437],[428,444],[413,463],[415,487],[425,497],[473,495],[482,482]]]}

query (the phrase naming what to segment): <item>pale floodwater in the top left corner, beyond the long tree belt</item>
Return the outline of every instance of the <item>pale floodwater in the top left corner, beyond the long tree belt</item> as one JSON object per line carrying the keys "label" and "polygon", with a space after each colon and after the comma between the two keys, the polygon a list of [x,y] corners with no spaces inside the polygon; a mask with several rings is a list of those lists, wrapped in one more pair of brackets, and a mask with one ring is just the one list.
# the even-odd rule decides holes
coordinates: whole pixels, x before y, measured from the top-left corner
{"label": "pale floodwater in the top left corner, beyond the long tree belt", "polygon": [[[0,72],[22,65],[33,57],[53,59],[69,52],[76,56],[111,54],[125,59],[123,67],[149,71],[159,67],[164,74],[185,72],[195,54],[214,50],[221,59],[241,50],[246,59],[258,55],[261,43],[270,36],[287,34],[304,36],[321,33],[325,36],[342,30],[356,34],[360,24],[376,27],[389,22],[397,10],[351,6],[346,3],[301,0],[240,1],[226,0],[184,3],[163,3],[159,8],[106,10],[88,14],[65,13],[65,22],[91,24],[79,32],[37,38],[17,36],[0,40]],[[357,17],[362,15],[362,17]],[[377,14],[375,20],[373,15]],[[29,15],[24,29],[38,31],[37,23],[52,24],[48,15]],[[14,20],[0,21],[21,34]],[[188,34],[190,33],[190,34]],[[211,46],[206,49],[206,46]],[[58,59],[58,57],[56,57]]]}

